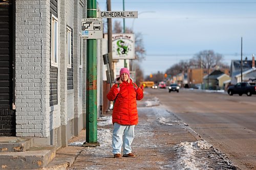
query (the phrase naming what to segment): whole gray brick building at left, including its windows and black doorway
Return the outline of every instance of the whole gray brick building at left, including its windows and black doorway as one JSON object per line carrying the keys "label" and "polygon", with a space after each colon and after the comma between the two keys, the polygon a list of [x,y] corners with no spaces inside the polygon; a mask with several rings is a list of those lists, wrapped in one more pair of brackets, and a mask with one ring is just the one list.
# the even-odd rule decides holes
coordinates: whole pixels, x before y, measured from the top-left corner
{"label": "whole gray brick building at left, including its windows and black doorway", "polygon": [[[5,29],[0,33],[5,44],[0,47],[0,136],[65,146],[85,128],[86,40],[80,25],[86,2],[0,1]],[[100,67],[102,60],[97,62]],[[98,68],[97,82],[101,72]],[[97,83],[98,113],[101,85]]]}

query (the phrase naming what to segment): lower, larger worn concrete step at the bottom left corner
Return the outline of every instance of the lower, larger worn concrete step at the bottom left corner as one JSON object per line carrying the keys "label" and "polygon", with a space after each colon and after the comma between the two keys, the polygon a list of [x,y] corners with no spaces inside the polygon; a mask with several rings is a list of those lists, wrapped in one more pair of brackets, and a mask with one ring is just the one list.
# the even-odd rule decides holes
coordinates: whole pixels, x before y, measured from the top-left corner
{"label": "lower, larger worn concrete step at the bottom left corner", "polygon": [[1,152],[0,167],[3,169],[40,169],[55,157],[54,146],[34,146],[25,152]]}

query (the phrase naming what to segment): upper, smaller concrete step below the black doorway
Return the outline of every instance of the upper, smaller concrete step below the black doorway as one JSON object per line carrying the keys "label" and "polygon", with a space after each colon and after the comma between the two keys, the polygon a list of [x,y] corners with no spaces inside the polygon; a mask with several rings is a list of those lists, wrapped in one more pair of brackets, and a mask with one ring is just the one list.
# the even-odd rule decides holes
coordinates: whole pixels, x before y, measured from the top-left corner
{"label": "upper, smaller concrete step below the black doorway", "polygon": [[25,137],[0,137],[1,152],[24,152],[33,147],[33,139]]}

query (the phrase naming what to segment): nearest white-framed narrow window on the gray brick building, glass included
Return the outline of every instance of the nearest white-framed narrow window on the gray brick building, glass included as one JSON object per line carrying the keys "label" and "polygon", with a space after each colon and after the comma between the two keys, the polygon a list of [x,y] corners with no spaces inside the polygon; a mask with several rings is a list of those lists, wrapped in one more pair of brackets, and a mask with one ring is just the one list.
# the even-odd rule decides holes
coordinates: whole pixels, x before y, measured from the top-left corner
{"label": "nearest white-framed narrow window on the gray brick building, glass included", "polygon": [[58,19],[51,17],[51,66],[58,66]]}

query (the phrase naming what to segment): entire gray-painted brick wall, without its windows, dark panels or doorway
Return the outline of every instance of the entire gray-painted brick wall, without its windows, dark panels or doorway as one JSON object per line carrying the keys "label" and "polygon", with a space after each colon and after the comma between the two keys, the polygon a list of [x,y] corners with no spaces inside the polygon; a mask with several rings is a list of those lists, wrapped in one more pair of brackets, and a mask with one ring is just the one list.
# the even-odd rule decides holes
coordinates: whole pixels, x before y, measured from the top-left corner
{"label": "entire gray-painted brick wall, without its windows, dark panels or doorway", "polygon": [[[84,9],[84,0],[58,1],[58,104],[50,107],[50,0],[16,1],[16,136],[48,138],[50,131],[67,125],[82,114],[82,109],[86,110],[85,81],[83,95],[78,90],[80,78],[85,80],[86,76],[86,63],[83,71],[79,71],[79,34],[81,18],[86,16]],[[67,26],[73,29],[75,88],[70,91],[67,89]],[[83,61],[86,61],[83,42]]]}

